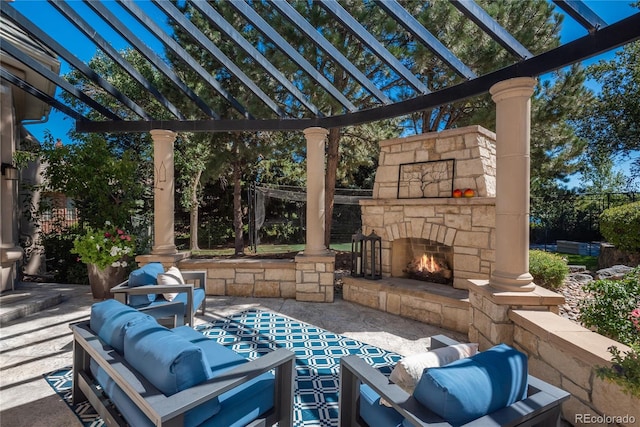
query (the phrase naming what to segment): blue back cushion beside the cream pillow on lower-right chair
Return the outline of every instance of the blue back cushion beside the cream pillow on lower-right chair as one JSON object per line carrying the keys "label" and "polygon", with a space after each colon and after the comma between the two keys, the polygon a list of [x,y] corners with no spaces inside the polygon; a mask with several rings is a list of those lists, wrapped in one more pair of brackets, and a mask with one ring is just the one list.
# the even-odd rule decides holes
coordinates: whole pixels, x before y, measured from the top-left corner
{"label": "blue back cushion beside the cream pillow on lower-right chair", "polygon": [[526,397],[527,356],[500,344],[424,371],[413,392],[422,405],[460,425]]}

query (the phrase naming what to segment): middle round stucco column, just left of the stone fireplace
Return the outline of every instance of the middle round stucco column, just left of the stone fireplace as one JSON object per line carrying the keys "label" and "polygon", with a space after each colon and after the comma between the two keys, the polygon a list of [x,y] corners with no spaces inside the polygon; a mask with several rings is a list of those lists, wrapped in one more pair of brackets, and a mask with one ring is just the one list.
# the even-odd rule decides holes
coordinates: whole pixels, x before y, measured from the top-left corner
{"label": "middle round stucco column, just left of the stone fireplace", "polygon": [[329,131],[321,127],[304,130],[307,139],[307,242],[305,255],[327,253],[324,245],[324,147]]}

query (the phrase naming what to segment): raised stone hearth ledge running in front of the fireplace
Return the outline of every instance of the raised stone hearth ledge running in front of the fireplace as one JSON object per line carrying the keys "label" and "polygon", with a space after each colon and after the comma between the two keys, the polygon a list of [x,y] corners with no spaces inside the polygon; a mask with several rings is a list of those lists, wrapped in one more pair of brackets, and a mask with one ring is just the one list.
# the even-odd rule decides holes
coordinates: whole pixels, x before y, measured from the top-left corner
{"label": "raised stone hearth ledge running in front of the fireplace", "polygon": [[401,278],[342,280],[346,301],[457,332],[469,330],[466,290]]}

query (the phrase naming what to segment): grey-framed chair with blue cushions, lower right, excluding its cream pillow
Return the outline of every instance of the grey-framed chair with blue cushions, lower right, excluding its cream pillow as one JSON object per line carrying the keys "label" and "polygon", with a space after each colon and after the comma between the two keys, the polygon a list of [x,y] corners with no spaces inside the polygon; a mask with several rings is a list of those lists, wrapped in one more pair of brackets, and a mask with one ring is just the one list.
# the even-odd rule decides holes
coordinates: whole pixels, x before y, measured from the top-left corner
{"label": "grey-framed chair with blue cushions, lower right, excluding its cream pillow", "polygon": [[[456,344],[442,335],[431,338],[432,350]],[[497,351],[489,349],[439,368],[425,369],[411,394],[390,382],[364,359],[356,355],[343,357],[340,361],[340,425],[559,425],[561,404],[571,395],[528,375],[523,353],[504,344],[496,348]],[[508,355],[505,357],[509,359],[493,359],[495,355],[490,352],[497,353],[498,358],[502,357],[500,353]],[[474,377],[481,378],[476,381]],[[483,382],[487,387],[477,387]],[[502,394],[507,394],[507,400],[513,403],[493,408],[500,405],[496,402],[501,401]],[[489,405],[483,406],[485,403]],[[485,413],[479,413],[485,409]],[[469,419],[469,416],[475,418]]]}

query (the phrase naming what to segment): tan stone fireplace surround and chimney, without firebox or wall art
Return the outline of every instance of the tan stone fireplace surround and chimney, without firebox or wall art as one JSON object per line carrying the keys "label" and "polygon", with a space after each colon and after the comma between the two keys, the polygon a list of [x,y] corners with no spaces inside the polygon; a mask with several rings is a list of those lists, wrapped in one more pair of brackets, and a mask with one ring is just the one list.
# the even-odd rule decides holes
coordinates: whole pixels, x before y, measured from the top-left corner
{"label": "tan stone fireplace surround and chimney, without firebox or wall art", "polygon": [[[495,260],[495,134],[480,126],[392,139],[380,143],[371,200],[361,200],[362,231],[382,238],[382,275],[391,276],[392,242],[423,238],[453,247],[453,286],[488,279]],[[454,188],[473,198],[398,199],[404,163],[456,159]]]}

